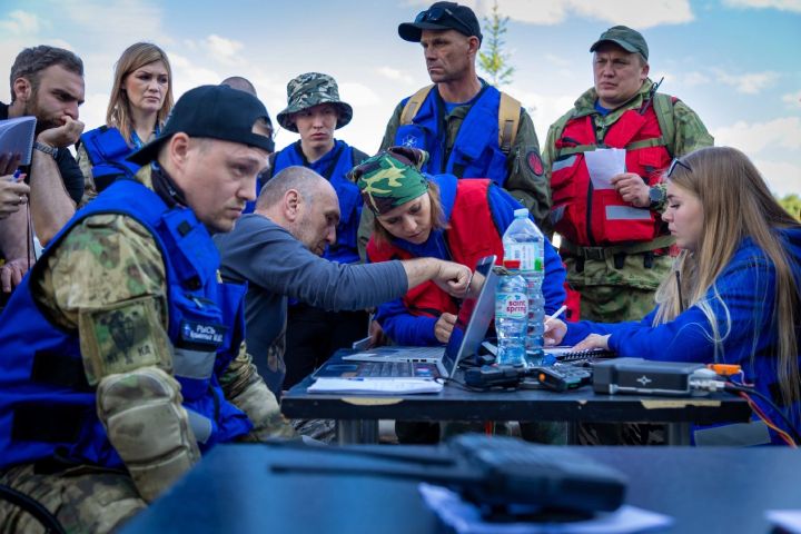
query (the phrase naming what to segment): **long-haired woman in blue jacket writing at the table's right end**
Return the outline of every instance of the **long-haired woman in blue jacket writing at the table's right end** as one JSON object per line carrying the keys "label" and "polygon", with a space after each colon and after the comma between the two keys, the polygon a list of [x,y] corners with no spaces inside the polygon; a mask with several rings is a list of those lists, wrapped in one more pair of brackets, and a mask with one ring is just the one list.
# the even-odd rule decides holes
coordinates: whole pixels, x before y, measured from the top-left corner
{"label": "long-haired woman in blue jacket writing at the table's right end", "polygon": [[[546,327],[546,343],[740,365],[744,382],[783,408],[801,432],[801,225],[733,148],[689,154],[674,160],[665,178],[669,204],[662,219],[682,253],[656,293],[656,308],[641,323],[555,319]],[[788,431],[768,403],[754,400]],[[770,437],[781,443],[773,431]]]}

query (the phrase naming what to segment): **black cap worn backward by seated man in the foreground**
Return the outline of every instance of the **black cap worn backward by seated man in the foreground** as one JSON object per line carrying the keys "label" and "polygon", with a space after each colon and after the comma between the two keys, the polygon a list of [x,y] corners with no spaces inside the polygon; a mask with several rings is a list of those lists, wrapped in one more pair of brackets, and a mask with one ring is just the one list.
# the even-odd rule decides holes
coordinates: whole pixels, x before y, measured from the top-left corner
{"label": "black cap worn backward by seated man in the foreground", "polygon": [[239,142],[271,152],[273,139],[253,132],[259,119],[270,123],[264,103],[253,95],[228,86],[196,87],[178,99],[158,137],[127,159],[138,165],[155,160],[161,145],[180,131],[190,137]]}

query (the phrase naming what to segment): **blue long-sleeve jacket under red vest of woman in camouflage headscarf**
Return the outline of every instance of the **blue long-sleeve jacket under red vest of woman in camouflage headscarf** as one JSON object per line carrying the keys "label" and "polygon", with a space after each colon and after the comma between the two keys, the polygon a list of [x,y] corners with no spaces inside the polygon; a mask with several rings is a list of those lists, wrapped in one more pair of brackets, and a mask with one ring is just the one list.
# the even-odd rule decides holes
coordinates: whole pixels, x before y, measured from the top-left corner
{"label": "blue long-sleeve jacket under red vest of woman in camouflage headscarf", "polygon": [[[451,221],[458,180],[453,175],[435,175],[431,176],[429,179],[439,187],[443,216],[446,221]],[[508,192],[495,185],[492,185],[487,190],[487,201],[495,227],[498,229],[500,235],[503,235],[514,220],[514,210],[523,206]],[[447,233],[447,229],[432,231],[428,239],[421,245],[414,245],[403,239],[393,239],[393,244],[415,257],[452,260],[445,233]],[[501,239],[500,236],[498,239]],[[543,281],[543,297],[545,298],[545,313],[553,314],[565,300],[564,281],[566,274],[562,259],[547,239],[545,239],[544,253],[545,279]],[[376,319],[387,336],[399,345],[439,344],[434,335],[434,325],[437,318],[412,315],[399,298],[380,305]]]}

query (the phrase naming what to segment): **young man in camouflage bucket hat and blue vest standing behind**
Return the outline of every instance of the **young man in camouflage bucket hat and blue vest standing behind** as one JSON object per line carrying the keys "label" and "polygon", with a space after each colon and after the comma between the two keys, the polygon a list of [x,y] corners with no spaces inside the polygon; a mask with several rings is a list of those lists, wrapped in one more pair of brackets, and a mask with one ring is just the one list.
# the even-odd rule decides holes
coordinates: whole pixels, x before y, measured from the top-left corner
{"label": "young man in camouflage bucket hat and blue vest standing behind", "polygon": [[[278,113],[278,123],[299,134],[300,139],[270,158],[270,169],[260,176],[260,181],[264,184],[291,166],[306,167],[328,180],[337,194],[340,216],[336,243],[326,247],[323,257],[338,264],[356,264],[362,196],[348,171],[367,159],[367,155],[334,138],[335,130],[350,122],[353,108],[339,99],[334,78],[320,72],[306,72],[290,80],[287,100],[286,109]],[[288,389],[336,349],[362,339],[367,322],[365,310],[329,312],[304,303],[289,306],[286,375],[284,369],[270,369],[274,373],[267,375],[268,385],[277,395]]]}

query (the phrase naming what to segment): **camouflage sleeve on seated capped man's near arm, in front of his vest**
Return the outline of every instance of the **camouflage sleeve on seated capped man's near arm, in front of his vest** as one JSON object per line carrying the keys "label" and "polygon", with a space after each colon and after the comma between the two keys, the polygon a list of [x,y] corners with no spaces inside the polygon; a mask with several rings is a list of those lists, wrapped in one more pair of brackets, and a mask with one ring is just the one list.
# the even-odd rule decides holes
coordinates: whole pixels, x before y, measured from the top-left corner
{"label": "camouflage sleeve on seated capped man's near arm, in front of his vest", "polygon": [[78,330],[109,442],[152,501],[200,456],[171,376],[161,254],[130,217],[98,215],[65,237],[47,267],[33,296]]}

